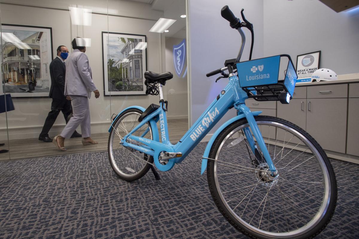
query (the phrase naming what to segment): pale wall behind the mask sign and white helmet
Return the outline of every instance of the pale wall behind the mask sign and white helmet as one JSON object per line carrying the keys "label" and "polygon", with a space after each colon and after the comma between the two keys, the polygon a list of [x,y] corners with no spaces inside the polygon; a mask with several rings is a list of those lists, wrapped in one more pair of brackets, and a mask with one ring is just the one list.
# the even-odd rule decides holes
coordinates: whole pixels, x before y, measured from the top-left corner
{"label": "pale wall behind the mask sign and white helmet", "polygon": [[319,0],[264,1],[264,55],[321,51],[320,67],[359,72],[359,11],[336,13]]}

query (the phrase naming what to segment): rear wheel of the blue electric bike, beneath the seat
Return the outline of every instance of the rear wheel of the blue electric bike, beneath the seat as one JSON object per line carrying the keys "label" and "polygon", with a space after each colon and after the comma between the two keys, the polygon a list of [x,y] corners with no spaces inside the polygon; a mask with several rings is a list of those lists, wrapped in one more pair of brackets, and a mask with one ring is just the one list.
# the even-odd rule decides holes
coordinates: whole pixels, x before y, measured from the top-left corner
{"label": "rear wheel of the blue electric bike, beneath the seat", "polygon": [[[143,112],[137,108],[130,108],[122,112],[112,124],[108,137],[108,158],[112,169],[118,177],[126,181],[135,181],[145,175],[153,163],[153,157],[120,144],[123,136],[127,135],[137,125],[138,118]],[[147,131],[147,132],[146,132]],[[153,139],[149,123],[136,130],[132,135]],[[128,140],[127,140],[128,141]],[[132,141],[132,144],[141,145]]]}

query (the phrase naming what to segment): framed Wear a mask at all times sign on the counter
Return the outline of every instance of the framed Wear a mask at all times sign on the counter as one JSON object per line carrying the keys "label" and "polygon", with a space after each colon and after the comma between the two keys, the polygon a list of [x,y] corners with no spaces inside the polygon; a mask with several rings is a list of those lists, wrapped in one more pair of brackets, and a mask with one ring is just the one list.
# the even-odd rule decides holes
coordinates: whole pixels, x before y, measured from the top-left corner
{"label": "framed Wear a mask at all times sign on the counter", "polygon": [[310,52],[297,56],[297,83],[311,81],[313,72],[319,69],[320,52]]}

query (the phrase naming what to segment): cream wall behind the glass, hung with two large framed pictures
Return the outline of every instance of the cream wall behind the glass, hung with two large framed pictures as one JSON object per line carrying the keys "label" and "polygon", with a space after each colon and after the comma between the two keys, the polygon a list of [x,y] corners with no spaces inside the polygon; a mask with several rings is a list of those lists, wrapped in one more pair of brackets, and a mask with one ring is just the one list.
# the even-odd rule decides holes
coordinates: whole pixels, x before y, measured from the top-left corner
{"label": "cream wall behind the glass, hung with two large framed pictures", "polygon": [[[17,4],[11,4],[17,3]],[[158,102],[157,96],[106,96],[103,89],[103,64],[102,64],[102,34],[101,32],[119,32],[143,34],[147,37],[147,70],[162,71],[162,52],[164,46],[159,33],[151,33],[148,30],[153,26],[163,12],[151,10],[149,4],[130,1],[85,1],[85,0],[12,0],[1,1],[1,23],[33,25],[52,28],[53,54],[56,56],[56,48],[66,45],[71,49],[71,40],[76,37],[92,39],[92,46],[87,48],[93,72],[93,80],[100,98],[90,99],[90,114],[92,132],[106,132],[112,113],[118,113],[121,109],[132,105],[147,107],[150,102]],[[26,5],[24,5],[26,4]],[[84,8],[93,9],[92,25],[90,27],[71,26],[68,6],[82,5]],[[39,6],[46,6],[42,8]],[[75,5],[76,6],[76,5]],[[54,8],[55,7],[55,8]],[[107,16],[107,7],[112,15]],[[105,13],[105,14],[103,14]],[[122,14],[115,15],[116,14]],[[72,27],[72,29],[71,29]],[[71,50],[70,50],[71,52]],[[25,139],[38,137],[50,111],[50,98],[14,98],[15,110],[7,113],[10,139]],[[60,113],[55,126],[50,131],[50,136],[61,132],[65,120]],[[0,139],[7,139],[6,117],[0,115]]]}

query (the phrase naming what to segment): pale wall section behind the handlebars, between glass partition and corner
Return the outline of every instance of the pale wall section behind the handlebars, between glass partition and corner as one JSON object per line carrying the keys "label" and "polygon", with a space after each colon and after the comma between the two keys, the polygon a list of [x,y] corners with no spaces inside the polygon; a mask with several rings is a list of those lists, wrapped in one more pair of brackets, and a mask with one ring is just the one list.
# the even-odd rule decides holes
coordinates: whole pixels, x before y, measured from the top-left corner
{"label": "pale wall section behind the handlebars, between glass partition and corner", "polygon": [[[229,22],[222,18],[220,11],[228,5],[234,15],[244,15],[254,26],[255,43],[252,58],[263,57],[263,1],[262,0],[188,0],[188,24],[190,44],[190,97],[191,124],[204,112],[221,90],[228,84],[228,79],[221,79],[215,83],[216,76],[206,77],[206,73],[224,67],[224,61],[236,58],[241,36],[229,26]],[[248,60],[251,34],[246,33],[246,47],[242,61]],[[218,77],[218,76],[217,76]],[[213,133],[221,122],[236,115],[229,111],[211,130]]]}

